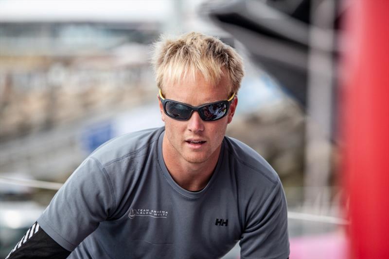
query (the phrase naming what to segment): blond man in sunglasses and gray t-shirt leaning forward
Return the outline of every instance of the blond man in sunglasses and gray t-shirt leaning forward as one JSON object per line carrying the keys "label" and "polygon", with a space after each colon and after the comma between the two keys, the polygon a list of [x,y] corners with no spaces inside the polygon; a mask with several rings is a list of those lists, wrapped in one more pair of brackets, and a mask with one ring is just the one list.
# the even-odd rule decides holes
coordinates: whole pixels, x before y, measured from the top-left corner
{"label": "blond man in sunglasses and gray t-shirt leaning forward", "polygon": [[[226,137],[243,77],[239,55],[191,32],[156,44],[165,127],[113,139],[55,194],[9,258],[289,256],[276,172]],[[39,253],[39,254],[38,254]]]}

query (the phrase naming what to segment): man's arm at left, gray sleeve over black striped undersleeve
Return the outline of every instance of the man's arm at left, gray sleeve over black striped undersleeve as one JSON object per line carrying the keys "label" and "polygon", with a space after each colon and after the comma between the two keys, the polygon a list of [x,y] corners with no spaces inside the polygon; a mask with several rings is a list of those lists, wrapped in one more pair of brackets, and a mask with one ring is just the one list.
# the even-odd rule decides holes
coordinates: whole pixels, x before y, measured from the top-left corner
{"label": "man's arm at left, gray sleeve over black striped undersleeve", "polygon": [[85,160],[11,251],[9,259],[67,258],[106,220],[115,203],[112,193],[99,163]]}

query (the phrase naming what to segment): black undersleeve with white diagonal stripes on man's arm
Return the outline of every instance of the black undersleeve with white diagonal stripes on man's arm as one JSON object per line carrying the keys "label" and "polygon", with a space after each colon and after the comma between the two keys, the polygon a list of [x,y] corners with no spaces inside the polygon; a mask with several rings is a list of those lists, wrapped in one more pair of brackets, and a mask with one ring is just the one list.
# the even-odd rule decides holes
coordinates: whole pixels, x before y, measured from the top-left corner
{"label": "black undersleeve with white diagonal stripes on man's arm", "polygon": [[67,258],[70,253],[71,251],[56,243],[35,222],[6,259],[62,259]]}

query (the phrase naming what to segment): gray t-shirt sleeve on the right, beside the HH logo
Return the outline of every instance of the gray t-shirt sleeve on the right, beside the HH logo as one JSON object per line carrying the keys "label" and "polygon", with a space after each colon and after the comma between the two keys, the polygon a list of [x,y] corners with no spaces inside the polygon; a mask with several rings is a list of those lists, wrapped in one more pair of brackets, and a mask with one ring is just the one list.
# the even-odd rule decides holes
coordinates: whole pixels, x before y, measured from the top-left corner
{"label": "gray t-shirt sleeve on the right, beside the HH logo", "polygon": [[289,257],[287,206],[281,182],[276,183],[265,203],[250,203],[239,244],[242,259]]}

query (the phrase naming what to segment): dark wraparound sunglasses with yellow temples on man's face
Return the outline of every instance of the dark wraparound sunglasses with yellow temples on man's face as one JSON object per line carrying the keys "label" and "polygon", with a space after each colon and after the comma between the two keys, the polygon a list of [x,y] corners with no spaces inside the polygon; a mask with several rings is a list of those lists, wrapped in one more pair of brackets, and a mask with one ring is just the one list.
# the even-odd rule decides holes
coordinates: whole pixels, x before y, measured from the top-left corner
{"label": "dark wraparound sunglasses with yellow temples on man's face", "polygon": [[159,89],[159,100],[162,103],[163,111],[166,115],[176,120],[189,120],[194,111],[196,111],[204,121],[221,119],[226,116],[234,97],[235,93],[233,93],[228,100],[207,103],[195,107],[186,103],[165,99]]}

